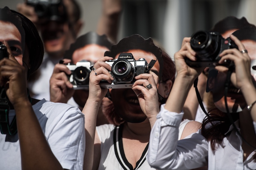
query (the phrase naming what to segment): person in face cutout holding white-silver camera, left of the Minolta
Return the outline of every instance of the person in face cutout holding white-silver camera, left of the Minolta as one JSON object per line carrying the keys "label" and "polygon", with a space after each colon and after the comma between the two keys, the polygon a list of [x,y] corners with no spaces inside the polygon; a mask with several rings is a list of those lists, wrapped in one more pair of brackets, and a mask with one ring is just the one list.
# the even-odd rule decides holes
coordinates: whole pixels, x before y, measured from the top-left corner
{"label": "person in face cutout holding white-silver camera, left of the Minolta", "polygon": [[[78,37],[65,52],[63,63],[58,63],[54,67],[50,79],[50,100],[67,103],[73,97],[82,110],[89,95],[90,66],[102,58],[111,46],[112,43],[106,35],[100,36],[93,31]],[[105,98],[104,102],[107,101]],[[108,121],[102,109],[99,109],[97,125],[106,123]]]}

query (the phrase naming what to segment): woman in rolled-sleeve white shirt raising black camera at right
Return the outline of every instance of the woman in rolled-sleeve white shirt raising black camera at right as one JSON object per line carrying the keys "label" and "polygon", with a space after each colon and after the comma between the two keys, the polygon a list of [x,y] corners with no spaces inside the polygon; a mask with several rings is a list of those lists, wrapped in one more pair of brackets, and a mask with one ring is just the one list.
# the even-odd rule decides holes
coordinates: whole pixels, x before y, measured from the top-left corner
{"label": "woman in rolled-sleeve white shirt raising black camera at right", "polygon": [[208,169],[255,169],[255,80],[250,72],[248,51],[233,35],[230,39],[237,48],[222,51],[220,60],[216,61],[219,64],[209,71],[207,88],[213,92],[216,107],[209,110],[202,129],[177,141],[188,91],[204,69],[190,67],[185,62],[185,58],[199,60],[190,39],[184,38],[181,49],[174,55],[177,77],[152,128],[148,162],[157,169],[193,169],[207,165]]}

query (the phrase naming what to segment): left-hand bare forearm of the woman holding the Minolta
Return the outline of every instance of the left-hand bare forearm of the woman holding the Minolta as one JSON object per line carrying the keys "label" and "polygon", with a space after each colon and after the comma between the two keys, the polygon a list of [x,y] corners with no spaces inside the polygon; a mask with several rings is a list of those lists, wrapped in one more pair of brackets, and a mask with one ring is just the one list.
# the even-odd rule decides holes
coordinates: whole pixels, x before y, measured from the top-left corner
{"label": "left-hand bare forearm of the woman holding the Minolta", "polygon": [[101,102],[88,98],[82,113],[85,115],[85,156],[84,170],[91,170],[93,166],[94,139],[96,119]]}

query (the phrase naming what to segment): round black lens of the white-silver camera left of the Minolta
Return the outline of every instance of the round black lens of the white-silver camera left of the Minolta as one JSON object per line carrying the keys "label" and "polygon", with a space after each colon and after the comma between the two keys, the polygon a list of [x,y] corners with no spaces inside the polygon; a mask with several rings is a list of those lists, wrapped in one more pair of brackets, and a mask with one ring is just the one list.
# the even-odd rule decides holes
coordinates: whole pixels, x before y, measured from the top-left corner
{"label": "round black lens of the white-silver camera left of the Minolta", "polygon": [[88,85],[89,84],[90,72],[86,67],[77,67],[73,72],[74,80],[78,85]]}

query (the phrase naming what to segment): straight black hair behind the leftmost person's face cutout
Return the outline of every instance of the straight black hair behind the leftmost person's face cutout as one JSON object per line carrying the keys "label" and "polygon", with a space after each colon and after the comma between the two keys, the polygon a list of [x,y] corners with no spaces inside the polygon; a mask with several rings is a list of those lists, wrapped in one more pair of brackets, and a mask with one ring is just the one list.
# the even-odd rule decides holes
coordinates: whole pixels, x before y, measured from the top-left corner
{"label": "straight black hair behind the leftmost person's face cutout", "polygon": [[11,12],[18,16],[22,21],[22,27],[25,31],[25,44],[29,50],[30,69],[28,70],[28,77],[35,72],[43,61],[44,48],[43,42],[40,38],[35,25],[24,15],[14,10]]}

